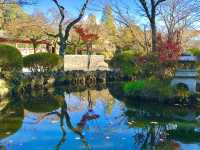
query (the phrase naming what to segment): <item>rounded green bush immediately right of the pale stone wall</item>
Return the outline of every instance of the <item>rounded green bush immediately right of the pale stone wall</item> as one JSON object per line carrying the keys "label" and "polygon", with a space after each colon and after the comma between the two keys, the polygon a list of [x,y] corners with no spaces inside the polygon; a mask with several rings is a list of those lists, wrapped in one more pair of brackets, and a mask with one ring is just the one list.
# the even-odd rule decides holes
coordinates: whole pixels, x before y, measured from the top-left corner
{"label": "rounded green bush immediately right of the pale stone wall", "polygon": [[127,76],[135,76],[139,72],[139,68],[134,60],[136,56],[138,54],[133,50],[125,51],[122,54],[115,55],[110,65],[113,68],[119,68]]}

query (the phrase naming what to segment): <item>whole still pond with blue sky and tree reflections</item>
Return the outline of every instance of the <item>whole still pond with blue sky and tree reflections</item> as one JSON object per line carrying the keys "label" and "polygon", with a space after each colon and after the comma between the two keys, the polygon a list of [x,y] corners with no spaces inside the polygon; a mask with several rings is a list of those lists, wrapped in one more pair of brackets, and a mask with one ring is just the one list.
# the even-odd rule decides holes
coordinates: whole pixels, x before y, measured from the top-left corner
{"label": "whole still pond with blue sky and tree reflections", "polygon": [[23,95],[0,109],[0,150],[200,149],[200,110],[119,95],[111,87]]}

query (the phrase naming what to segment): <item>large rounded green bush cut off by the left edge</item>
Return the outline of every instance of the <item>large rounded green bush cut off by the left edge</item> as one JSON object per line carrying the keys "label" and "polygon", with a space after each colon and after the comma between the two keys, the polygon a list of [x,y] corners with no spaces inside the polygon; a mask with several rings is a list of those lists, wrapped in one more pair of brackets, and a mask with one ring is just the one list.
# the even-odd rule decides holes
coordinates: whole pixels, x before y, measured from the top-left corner
{"label": "large rounded green bush cut off by the left edge", "polygon": [[0,74],[7,80],[21,72],[23,59],[21,53],[12,46],[0,45]]}

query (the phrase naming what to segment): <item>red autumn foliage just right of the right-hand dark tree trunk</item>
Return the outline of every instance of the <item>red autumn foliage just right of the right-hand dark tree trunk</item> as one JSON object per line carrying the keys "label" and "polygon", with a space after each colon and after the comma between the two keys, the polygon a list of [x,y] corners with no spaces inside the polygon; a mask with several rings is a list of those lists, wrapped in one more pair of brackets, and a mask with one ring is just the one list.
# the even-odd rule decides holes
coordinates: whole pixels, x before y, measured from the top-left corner
{"label": "red autumn foliage just right of the right-hand dark tree trunk", "polygon": [[159,54],[159,60],[161,63],[168,61],[176,61],[182,53],[182,47],[180,42],[165,40],[161,34],[157,36],[157,50]]}

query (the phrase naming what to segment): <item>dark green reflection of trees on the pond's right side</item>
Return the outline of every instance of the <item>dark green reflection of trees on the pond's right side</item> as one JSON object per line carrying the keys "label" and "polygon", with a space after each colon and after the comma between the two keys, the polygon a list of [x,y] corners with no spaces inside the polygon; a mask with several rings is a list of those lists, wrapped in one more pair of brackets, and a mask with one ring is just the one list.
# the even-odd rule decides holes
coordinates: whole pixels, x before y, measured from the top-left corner
{"label": "dark green reflection of trees on the pond's right side", "polygon": [[133,138],[141,149],[180,149],[182,143],[199,143],[200,134],[195,132],[200,124],[195,118],[198,110],[162,107],[126,101],[125,114],[129,126],[138,128]]}

